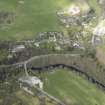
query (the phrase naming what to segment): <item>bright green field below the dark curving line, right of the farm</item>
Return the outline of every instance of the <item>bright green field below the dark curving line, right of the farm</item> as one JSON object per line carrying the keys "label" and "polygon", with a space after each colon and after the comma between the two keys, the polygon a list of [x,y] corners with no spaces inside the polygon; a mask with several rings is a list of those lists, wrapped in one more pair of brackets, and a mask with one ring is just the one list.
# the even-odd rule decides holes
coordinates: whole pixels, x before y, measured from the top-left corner
{"label": "bright green field below the dark curving line, right of the farm", "polygon": [[44,89],[70,105],[105,105],[105,94],[71,71],[46,73]]}

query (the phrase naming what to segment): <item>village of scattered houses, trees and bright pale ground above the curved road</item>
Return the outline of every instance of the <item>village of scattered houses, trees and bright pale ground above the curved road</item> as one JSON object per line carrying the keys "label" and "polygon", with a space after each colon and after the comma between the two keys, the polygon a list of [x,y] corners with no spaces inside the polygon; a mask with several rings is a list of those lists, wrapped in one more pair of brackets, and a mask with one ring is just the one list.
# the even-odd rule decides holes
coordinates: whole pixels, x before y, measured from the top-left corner
{"label": "village of scattered houses, trees and bright pale ground above the curved road", "polygon": [[96,18],[92,9],[82,11],[79,6],[72,5],[70,8],[57,11],[56,15],[60,23],[65,27],[67,35],[59,31],[40,32],[33,40],[9,42],[6,45],[7,55],[5,59],[9,59],[11,62],[13,59],[16,61],[20,56],[24,60],[24,56],[26,56],[25,59],[35,56],[32,52],[40,49],[45,50],[45,52],[46,50],[66,52],[73,49],[84,51],[88,45],[98,46],[105,43],[105,20],[101,20],[96,26],[92,26],[91,20]]}

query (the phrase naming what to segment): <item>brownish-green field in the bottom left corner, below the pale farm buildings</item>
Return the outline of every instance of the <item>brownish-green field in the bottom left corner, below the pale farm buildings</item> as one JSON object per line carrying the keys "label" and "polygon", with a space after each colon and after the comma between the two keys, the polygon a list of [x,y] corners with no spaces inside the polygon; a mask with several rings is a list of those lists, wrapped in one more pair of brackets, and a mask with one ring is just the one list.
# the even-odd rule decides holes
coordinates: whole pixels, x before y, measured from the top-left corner
{"label": "brownish-green field in the bottom left corner, below the pale farm buildings", "polygon": [[[56,105],[56,102],[45,97],[46,105]],[[3,98],[0,96],[0,105],[40,105],[41,100],[38,96],[32,96],[23,90],[16,91]]]}

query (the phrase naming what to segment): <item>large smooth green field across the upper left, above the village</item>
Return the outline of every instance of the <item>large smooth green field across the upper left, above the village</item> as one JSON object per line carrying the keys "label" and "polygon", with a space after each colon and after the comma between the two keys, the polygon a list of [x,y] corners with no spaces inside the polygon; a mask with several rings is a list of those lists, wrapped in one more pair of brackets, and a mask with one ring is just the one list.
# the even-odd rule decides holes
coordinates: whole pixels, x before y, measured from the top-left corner
{"label": "large smooth green field across the upper left, above the village", "polygon": [[60,31],[56,11],[70,3],[71,0],[0,0],[0,12],[15,14],[11,25],[0,25],[0,39],[29,39],[39,32]]}

